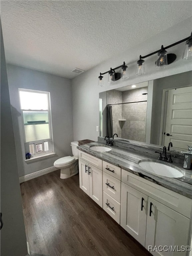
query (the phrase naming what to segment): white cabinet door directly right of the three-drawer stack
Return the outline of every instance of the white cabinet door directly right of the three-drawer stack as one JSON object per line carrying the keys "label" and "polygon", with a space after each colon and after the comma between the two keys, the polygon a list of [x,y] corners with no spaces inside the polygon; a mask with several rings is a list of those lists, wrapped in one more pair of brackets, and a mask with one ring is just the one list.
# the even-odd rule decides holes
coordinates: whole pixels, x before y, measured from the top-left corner
{"label": "white cabinet door directly right of the three-drawer stack", "polygon": [[120,225],[145,246],[148,196],[121,183]]}

